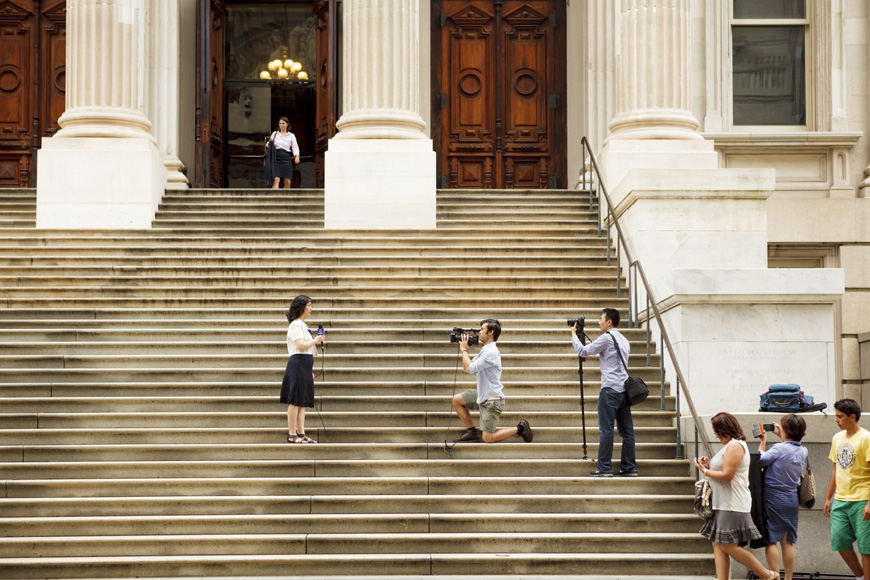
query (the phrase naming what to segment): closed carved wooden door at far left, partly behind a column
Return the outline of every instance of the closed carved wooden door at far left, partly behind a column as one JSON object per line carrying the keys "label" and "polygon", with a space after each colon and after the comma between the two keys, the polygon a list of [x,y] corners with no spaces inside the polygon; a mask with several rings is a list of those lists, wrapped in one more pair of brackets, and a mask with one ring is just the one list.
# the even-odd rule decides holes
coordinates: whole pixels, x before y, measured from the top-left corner
{"label": "closed carved wooden door at far left, partly behind a column", "polygon": [[66,97],[66,0],[0,6],[0,187],[36,186],[36,150]]}

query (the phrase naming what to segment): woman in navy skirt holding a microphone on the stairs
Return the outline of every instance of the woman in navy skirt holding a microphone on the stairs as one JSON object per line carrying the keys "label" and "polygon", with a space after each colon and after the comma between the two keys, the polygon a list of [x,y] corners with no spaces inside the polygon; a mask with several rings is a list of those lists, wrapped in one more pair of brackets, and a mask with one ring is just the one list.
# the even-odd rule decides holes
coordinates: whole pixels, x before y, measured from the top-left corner
{"label": "woman in navy skirt holding a microphone on the stairs", "polygon": [[300,294],[287,311],[287,370],[281,382],[281,402],[287,403],[287,443],[317,443],[305,434],[305,407],[314,406],[314,347],[323,334],[311,338],[305,320],[311,315],[311,299]]}

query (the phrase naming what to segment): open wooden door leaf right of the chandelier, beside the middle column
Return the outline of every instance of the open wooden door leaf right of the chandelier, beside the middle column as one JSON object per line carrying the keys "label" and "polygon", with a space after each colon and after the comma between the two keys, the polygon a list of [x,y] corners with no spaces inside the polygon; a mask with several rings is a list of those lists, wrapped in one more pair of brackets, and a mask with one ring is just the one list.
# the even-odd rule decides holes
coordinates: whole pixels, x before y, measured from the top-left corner
{"label": "open wooden door leaf right of the chandelier, beside the middle column", "polygon": [[317,126],[314,140],[315,184],[323,187],[324,154],[338,120],[338,34],[341,0],[317,0]]}

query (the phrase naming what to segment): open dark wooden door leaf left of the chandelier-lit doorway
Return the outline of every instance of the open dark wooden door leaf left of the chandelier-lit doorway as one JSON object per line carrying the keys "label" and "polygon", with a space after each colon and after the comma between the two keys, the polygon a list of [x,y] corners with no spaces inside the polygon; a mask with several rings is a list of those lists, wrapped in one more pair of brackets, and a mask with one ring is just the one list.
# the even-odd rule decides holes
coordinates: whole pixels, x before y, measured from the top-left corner
{"label": "open dark wooden door leaf left of the chandelier-lit doorway", "polygon": [[196,170],[195,187],[223,187],[224,34],[223,0],[196,5]]}

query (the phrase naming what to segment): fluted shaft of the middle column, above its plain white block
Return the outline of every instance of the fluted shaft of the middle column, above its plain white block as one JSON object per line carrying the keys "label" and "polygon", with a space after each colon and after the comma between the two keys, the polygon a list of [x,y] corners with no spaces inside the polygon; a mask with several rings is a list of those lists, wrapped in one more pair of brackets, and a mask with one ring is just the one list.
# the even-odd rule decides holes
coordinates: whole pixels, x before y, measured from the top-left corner
{"label": "fluted shaft of the middle column, above its plain white block", "polygon": [[344,114],[339,138],[425,139],[420,116],[419,2],[344,3]]}

